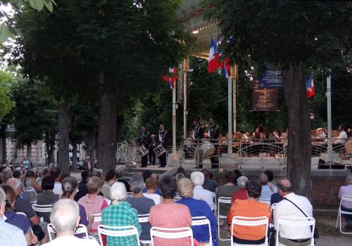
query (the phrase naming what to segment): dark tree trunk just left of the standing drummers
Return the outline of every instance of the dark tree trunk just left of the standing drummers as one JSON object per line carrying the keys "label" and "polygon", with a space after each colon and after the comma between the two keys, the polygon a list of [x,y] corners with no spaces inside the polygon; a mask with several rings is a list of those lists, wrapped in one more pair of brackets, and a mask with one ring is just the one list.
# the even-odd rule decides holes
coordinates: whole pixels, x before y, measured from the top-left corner
{"label": "dark tree trunk just left of the standing drummers", "polygon": [[107,89],[105,75],[99,73],[101,84],[99,95],[99,126],[96,148],[97,167],[107,171],[116,163],[116,112],[117,99],[115,90]]}

